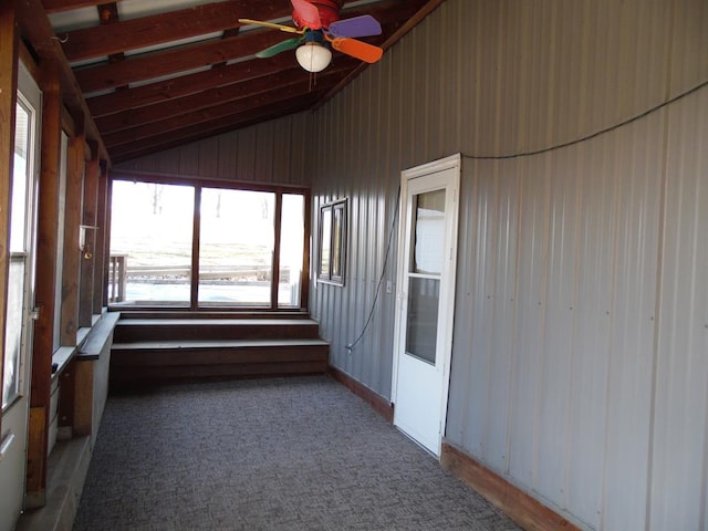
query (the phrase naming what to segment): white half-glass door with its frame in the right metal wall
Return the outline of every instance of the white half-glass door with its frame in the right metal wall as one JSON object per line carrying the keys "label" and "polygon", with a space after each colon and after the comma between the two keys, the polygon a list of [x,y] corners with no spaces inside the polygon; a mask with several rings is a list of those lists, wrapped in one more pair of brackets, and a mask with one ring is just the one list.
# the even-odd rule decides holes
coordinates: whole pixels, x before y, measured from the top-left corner
{"label": "white half-glass door with its frame in the right metal wall", "polygon": [[459,155],[402,175],[394,424],[440,455],[452,350]]}

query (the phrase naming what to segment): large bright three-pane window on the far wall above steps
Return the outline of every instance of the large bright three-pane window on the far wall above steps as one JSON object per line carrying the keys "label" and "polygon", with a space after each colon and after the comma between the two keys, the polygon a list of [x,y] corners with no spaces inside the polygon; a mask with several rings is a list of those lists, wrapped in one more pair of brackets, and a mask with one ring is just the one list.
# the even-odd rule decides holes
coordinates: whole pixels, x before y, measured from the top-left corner
{"label": "large bright three-pane window on the far wall above steps", "polygon": [[301,189],[116,178],[111,302],[300,308],[308,197]]}

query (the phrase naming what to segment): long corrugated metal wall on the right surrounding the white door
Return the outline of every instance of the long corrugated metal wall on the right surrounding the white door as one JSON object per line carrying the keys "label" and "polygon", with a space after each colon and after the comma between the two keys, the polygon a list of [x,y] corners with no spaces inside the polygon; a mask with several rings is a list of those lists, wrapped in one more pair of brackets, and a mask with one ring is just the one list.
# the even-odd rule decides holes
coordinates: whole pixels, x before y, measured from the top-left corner
{"label": "long corrugated metal wall on the right surrounding the white door", "polygon": [[[445,2],[315,115],[314,211],[350,199],[346,285],[311,288],[332,363],[389,396],[393,295],[345,345],[400,170],[568,143],[706,80],[705,0]],[[446,436],[589,529],[708,529],[707,150],[704,87],[464,163]]]}

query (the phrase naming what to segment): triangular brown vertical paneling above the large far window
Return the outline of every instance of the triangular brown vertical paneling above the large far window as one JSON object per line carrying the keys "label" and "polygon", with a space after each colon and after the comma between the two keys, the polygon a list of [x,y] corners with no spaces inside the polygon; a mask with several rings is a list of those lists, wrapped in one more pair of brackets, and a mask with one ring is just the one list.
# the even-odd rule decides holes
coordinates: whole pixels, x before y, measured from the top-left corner
{"label": "triangular brown vertical paneling above the large far window", "polygon": [[117,169],[241,183],[306,186],[312,114],[300,113],[137,158]]}

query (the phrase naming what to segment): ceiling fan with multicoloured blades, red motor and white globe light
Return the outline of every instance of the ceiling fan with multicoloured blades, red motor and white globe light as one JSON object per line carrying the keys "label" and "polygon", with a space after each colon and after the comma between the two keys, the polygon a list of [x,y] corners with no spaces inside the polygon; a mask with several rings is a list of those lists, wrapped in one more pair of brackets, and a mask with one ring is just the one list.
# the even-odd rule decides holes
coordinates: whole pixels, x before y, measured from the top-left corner
{"label": "ceiling fan with multicoloured blades, red motor and white globe light", "polygon": [[308,72],[321,72],[332,60],[331,48],[367,63],[378,61],[384,51],[373,44],[358,41],[357,37],[381,34],[381,24],[369,14],[340,20],[341,0],[290,0],[295,28],[251,19],[239,19],[242,24],[256,24],[289,33],[294,37],[279,42],[256,54],[272,58],[288,50],[295,50],[300,66]]}

